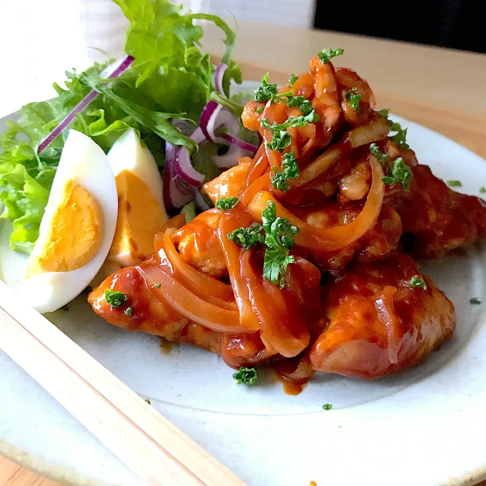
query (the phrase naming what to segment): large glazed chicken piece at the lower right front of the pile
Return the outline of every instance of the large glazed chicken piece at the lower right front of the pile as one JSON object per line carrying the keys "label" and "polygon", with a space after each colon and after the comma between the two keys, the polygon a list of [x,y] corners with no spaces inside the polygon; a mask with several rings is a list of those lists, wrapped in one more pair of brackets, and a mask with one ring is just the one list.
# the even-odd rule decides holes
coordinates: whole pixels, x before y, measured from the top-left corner
{"label": "large glazed chicken piece at the lower right front of the pile", "polygon": [[417,264],[398,255],[373,265],[354,264],[323,289],[327,327],[310,350],[312,368],[375,379],[419,363],[456,326],[452,302],[432,279],[426,289]]}

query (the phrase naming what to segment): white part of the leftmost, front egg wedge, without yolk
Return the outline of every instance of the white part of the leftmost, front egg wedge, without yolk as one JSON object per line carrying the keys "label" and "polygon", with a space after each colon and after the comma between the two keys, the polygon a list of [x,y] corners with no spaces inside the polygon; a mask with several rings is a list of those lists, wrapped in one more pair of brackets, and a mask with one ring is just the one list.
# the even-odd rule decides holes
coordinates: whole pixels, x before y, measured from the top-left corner
{"label": "white part of the leftmost, front egg wedge, without yolk", "polygon": [[[63,189],[69,179],[75,180],[91,193],[98,201],[103,215],[100,248],[86,265],[69,272],[46,272],[26,278],[27,256],[5,251],[5,242],[8,240],[5,228],[0,241],[3,280],[25,297],[26,303],[41,313],[59,309],[90,284],[108,255],[115,233],[118,195],[108,158],[91,138],[71,130],[64,144],[39,228],[39,238],[32,254],[38,253],[44,244],[52,217],[62,200]],[[82,234],[76,236],[83,238]]]}

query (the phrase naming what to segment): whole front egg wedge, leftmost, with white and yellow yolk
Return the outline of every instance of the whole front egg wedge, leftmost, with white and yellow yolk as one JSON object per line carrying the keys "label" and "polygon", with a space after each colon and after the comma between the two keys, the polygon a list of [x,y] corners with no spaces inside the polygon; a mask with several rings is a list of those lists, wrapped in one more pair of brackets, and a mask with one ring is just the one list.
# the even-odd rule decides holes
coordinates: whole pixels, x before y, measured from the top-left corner
{"label": "whole front egg wedge, leftmost, with white and yellow yolk", "polygon": [[39,312],[64,306],[103,265],[115,234],[117,212],[116,183],[108,157],[91,138],[71,130],[32,253],[26,260],[21,260],[23,255],[12,258],[17,267],[12,272],[3,258],[6,284]]}

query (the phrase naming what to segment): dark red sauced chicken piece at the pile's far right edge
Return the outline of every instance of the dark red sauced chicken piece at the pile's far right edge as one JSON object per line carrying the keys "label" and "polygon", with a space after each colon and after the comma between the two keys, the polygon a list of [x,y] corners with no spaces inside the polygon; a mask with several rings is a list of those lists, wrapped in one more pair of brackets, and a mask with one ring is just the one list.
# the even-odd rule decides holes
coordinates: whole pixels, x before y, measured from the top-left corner
{"label": "dark red sauced chicken piece at the pile's far right edge", "polygon": [[453,191],[427,166],[417,165],[412,172],[410,192],[400,192],[390,202],[403,232],[410,233],[404,235],[408,253],[438,258],[484,237],[486,208],[480,199]]}

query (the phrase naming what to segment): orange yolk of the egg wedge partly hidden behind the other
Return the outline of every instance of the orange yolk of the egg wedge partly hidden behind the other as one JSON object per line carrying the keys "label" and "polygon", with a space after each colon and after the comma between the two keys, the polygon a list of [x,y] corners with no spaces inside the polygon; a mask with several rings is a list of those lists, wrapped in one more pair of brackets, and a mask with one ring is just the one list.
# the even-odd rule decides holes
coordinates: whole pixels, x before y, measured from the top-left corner
{"label": "orange yolk of the egg wedge partly hidden behind the other", "polygon": [[115,181],[118,219],[109,256],[128,254],[131,259],[144,260],[154,252],[153,239],[165,216],[148,185],[136,174],[123,170]]}

